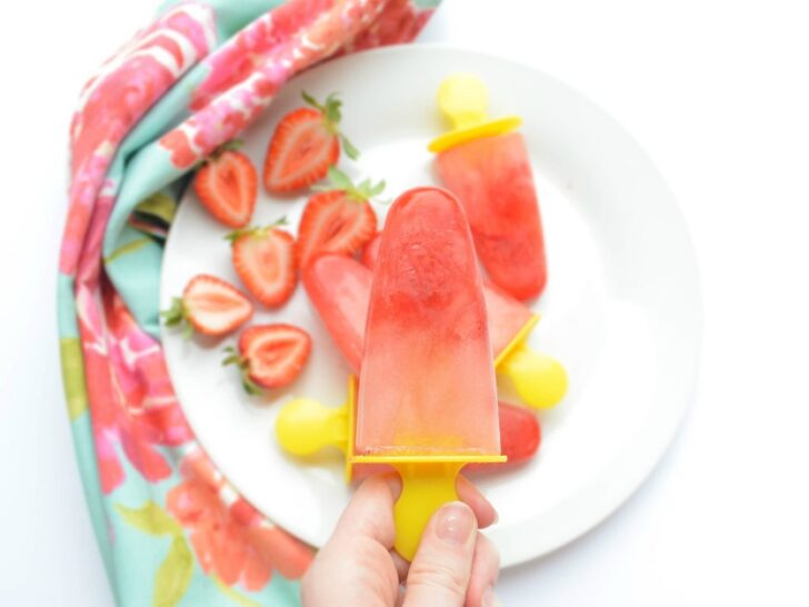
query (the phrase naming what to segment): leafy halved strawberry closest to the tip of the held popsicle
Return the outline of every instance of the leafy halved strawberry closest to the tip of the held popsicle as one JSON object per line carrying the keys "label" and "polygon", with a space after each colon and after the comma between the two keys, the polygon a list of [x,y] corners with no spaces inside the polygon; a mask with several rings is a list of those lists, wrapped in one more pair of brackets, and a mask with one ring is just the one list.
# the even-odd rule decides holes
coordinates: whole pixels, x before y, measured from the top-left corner
{"label": "leafy halved strawberry closest to the tip of the held popsicle", "polygon": [[367,179],[354,186],[334,167],[329,177],[332,185],[312,196],[303,209],[296,248],[300,268],[326,252],[353,255],[377,231],[377,215],[368,200],[384,189],[384,181],[372,186]]}

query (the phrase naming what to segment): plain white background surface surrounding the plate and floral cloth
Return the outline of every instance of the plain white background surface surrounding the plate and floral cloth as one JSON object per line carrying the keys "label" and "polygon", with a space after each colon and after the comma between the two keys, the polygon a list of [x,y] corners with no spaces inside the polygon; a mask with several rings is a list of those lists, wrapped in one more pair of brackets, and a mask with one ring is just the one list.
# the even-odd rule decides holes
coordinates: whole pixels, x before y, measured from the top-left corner
{"label": "plain white background surface surrounding the plate and floral cloth", "polygon": [[[151,4],[3,9],[3,606],[112,604],[73,460],[53,301],[71,110]],[[681,205],[703,289],[699,392],[671,450],[601,527],[503,571],[506,605],[809,604],[808,28],[801,0],[445,0],[425,31],[528,61],[621,121]]]}

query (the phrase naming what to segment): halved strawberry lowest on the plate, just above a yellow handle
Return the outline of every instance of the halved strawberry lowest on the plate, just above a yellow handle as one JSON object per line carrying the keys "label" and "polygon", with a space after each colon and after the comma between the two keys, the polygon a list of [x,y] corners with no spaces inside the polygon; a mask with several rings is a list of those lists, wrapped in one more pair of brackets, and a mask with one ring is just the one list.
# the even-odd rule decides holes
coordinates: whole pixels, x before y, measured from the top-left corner
{"label": "halved strawberry lowest on the plate, just above a yellow handle", "polygon": [[248,394],[262,394],[262,388],[280,388],[290,384],[303,369],[312,349],[312,340],[303,329],[292,325],[257,325],[242,331],[239,349],[229,347],[222,365],[241,369],[241,381]]}

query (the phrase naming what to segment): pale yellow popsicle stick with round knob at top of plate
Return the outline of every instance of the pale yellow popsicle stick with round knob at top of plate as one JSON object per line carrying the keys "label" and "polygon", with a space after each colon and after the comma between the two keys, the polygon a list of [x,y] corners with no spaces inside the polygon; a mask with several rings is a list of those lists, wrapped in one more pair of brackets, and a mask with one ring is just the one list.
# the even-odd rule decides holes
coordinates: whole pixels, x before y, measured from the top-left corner
{"label": "pale yellow popsicle stick with round knob at top of plate", "polygon": [[456,73],[438,88],[438,107],[451,125],[428,149],[441,152],[481,137],[503,135],[522,123],[519,116],[489,118],[489,91],[482,80],[471,73]]}

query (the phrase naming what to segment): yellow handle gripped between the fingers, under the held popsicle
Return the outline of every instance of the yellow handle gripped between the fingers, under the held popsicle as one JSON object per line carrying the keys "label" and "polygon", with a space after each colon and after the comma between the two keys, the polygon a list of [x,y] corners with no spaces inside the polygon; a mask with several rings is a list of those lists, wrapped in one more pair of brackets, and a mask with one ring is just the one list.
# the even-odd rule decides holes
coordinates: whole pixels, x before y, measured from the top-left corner
{"label": "yellow handle gripped between the fingers, under the held popsicle", "polygon": [[402,489],[393,507],[396,540],[402,558],[412,560],[430,517],[441,506],[458,499],[456,478],[466,462],[436,461],[396,464]]}

